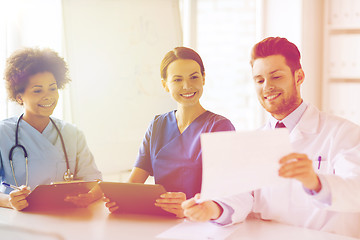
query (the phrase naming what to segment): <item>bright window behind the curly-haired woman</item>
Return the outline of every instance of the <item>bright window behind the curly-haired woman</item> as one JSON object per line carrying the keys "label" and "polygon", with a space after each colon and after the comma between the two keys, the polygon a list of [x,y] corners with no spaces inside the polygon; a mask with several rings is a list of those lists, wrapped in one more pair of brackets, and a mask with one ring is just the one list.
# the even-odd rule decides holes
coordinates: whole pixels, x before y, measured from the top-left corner
{"label": "bright window behind the curly-haired woman", "polygon": [[[0,0],[0,119],[22,111],[7,100],[3,80],[6,58],[22,47],[47,47],[62,55],[62,42],[61,0]],[[62,116],[61,96],[54,115]]]}

